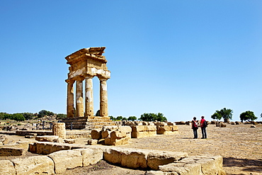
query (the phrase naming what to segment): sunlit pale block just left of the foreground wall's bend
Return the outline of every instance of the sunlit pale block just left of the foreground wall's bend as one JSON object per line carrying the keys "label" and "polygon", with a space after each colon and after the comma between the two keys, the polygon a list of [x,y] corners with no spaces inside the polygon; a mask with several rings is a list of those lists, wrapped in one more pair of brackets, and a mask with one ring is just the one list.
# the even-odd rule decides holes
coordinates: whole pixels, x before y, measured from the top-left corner
{"label": "sunlit pale block just left of the foreground wall's bend", "polygon": [[74,149],[77,152],[81,152],[83,166],[89,166],[90,164],[96,164],[103,159],[102,149]]}

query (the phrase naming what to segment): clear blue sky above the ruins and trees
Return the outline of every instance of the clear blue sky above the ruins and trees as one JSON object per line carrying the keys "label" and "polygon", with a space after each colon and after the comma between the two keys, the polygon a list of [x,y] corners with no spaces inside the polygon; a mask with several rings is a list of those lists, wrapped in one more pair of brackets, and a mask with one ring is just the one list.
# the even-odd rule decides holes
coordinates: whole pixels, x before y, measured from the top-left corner
{"label": "clear blue sky above the ruins and trees", "polygon": [[261,120],[261,0],[4,0],[0,21],[0,112],[66,113],[64,57],[105,46],[109,115]]}

